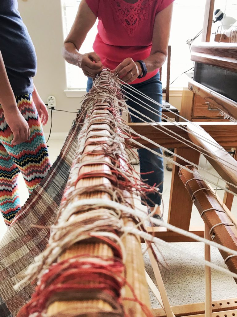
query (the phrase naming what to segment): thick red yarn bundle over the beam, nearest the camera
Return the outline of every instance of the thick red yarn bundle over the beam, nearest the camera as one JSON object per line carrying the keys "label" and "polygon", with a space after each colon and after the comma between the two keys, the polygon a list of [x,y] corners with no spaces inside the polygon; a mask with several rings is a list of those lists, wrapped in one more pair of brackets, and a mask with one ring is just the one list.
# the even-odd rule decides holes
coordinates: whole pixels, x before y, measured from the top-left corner
{"label": "thick red yarn bundle over the beam, nearest the camera", "polygon": [[86,290],[93,290],[103,292],[119,302],[124,285],[120,277],[123,272],[123,263],[115,258],[76,256],[55,263],[42,276],[31,301],[22,307],[17,317],[31,314],[41,317],[50,298],[64,292],[79,291],[83,294]]}

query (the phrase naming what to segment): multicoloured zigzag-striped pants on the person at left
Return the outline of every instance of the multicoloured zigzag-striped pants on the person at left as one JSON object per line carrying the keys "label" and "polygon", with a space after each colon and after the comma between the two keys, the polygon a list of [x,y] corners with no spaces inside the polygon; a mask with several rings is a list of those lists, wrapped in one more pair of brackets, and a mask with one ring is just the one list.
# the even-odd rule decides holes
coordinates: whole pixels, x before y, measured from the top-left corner
{"label": "multicoloured zigzag-striped pants on the person at left", "polygon": [[13,134],[5,121],[0,105],[0,210],[8,226],[21,209],[17,181],[19,173],[23,174],[31,194],[51,166],[32,94],[16,96],[16,102],[28,122],[30,138],[19,145],[11,145]]}

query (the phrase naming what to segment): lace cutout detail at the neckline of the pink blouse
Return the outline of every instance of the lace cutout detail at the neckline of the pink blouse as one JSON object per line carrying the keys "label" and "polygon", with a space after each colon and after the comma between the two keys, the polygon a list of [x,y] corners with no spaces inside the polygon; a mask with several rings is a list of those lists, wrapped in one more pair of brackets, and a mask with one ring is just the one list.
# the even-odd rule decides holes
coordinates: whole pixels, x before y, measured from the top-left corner
{"label": "lace cutout detail at the neckline of the pink blouse", "polygon": [[119,21],[127,30],[129,36],[134,35],[137,26],[149,17],[148,11],[154,0],[138,0],[136,3],[126,3],[124,0],[104,0],[109,2],[114,20]]}

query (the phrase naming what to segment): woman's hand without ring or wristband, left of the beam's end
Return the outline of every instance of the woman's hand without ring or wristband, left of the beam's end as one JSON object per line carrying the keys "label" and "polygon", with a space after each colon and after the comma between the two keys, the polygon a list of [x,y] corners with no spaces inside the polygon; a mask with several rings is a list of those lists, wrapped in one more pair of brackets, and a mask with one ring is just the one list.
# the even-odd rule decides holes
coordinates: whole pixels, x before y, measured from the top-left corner
{"label": "woman's hand without ring or wristband, left of the beam's end", "polygon": [[82,68],[84,75],[91,78],[95,78],[103,69],[100,57],[95,52],[83,54],[79,67]]}

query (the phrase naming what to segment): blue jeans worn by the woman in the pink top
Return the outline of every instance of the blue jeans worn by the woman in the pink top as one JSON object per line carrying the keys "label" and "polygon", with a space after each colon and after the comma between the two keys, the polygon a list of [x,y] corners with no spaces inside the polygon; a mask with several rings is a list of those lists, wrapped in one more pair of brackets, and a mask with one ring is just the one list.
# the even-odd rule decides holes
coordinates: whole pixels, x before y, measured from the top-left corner
{"label": "blue jeans worn by the woman in the pink top", "polygon": [[[152,78],[143,81],[139,84],[133,84],[130,85],[131,87],[136,88],[139,92],[147,95],[151,99],[157,101],[158,103],[162,103],[162,84],[160,81],[160,73],[158,72],[155,76]],[[92,78],[88,78],[87,81],[87,92],[92,87]],[[123,91],[125,96],[127,95],[127,98],[131,98],[135,100],[136,102],[142,104],[143,106],[147,107],[144,103],[141,101],[144,101],[146,104],[149,104],[153,109],[157,110],[159,114],[161,114],[161,106],[154,104],[153,102],[147,100],[146,98],[142,97],[139,92],[134,92],[128,88],[124,88],[126,92]],[[136,98],[139,100],[137,100]],[[143,108],[140,105],[138,105],[135,101],[127,100],[126,103],[139,111],[140,113],[143,113],[147,117],[149,117],[151,120],[154,120],[155,122],[161,122],[161,117],[158,115],[151,113],[148,109],[151,108]],[[138,117],[141,117],[140,114],[136,113],[135,111],[129,109],[131,113],[137,115]],[[151,109],[152,110],[152,109]],[[146,122],[151,122],[145,117],[142,117]],[[143,122],[142,120],[136,118],[131,114],[131,121],[132,122]],[[153,149],[155,152],[162,154],[162,150],[160,148]],[[141,175],[141,178],[144,180],[145,183],[149,184],[150,186],[156,186],[158,185],[160,193],[163,191],[163,180],[164,180],[164,165],[163,165],[163,159],[156,154],[153,154],[149,152],[146,149],[139,149],[138,150],[139,160],[140,160],[140,172],[141,173],[147,173],[150,171],[153,171],[153,173]],[[143,203],[143,199],[142,199]],[[161,196],[159,194],[148,194],[147,199],[144,201],[145,204],[149,205],[150,207],[153,207],[155,204],[160,205],[161,204]]]}

